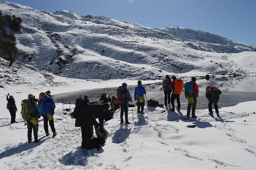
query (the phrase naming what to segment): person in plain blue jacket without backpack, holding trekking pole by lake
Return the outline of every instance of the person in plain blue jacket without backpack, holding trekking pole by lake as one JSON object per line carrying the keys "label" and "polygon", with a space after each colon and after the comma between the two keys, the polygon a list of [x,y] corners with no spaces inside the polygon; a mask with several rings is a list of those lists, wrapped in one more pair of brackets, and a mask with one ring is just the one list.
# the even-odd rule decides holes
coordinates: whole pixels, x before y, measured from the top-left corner
{"label": "person in plain blue jacket without backpack, holding trekking pole by lake", "polygon": [[[138,83],[138,86],[134,90],[134,100],[138,101],[137,113],[144,114],[143,112],[144,105],[145,105],[144,94],[146,94],[146,90],[145,90],[145,87],[142,86],[142,83],[140,80],[137,83]],[[140,111],[140,107],[141,107],[141,111]]]}

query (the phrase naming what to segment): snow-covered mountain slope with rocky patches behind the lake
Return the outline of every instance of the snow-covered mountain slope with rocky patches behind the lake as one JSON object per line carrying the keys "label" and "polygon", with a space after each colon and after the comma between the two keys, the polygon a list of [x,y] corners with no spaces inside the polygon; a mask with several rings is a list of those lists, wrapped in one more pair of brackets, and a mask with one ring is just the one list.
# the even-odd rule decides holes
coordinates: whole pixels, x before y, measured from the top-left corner
{"label": "snow-covered mountain slope with rocky patches behind the lake", "polygon": [[[18,62],[78,79],[160,79],[165,74],[250,74],[233,54],[256,47],[199,30],[151,28],[99,15],[54,13],[0,1],[3,15],[22,18]],[[243,60],[253,67],[253,59]],[[255,71],[253,72],[255,73]]]}

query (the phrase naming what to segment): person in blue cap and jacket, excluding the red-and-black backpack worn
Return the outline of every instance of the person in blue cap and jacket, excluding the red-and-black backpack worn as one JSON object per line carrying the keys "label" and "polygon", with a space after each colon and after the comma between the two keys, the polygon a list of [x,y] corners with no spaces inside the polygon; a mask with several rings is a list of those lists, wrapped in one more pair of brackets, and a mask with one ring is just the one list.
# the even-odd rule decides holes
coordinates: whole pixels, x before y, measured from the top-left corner
{"label": "person in blue cap and jacket, excluding the red-and-black backpack worn", "polygon": [[125,99],[124,101],[120,104],[120,118],[121,118],[121,122],[120,124],[123,124],[123,112],[125,112],[125,124],[130,124],[130,122],[128,121],[128,102],[132,102],[133,100],[131,99],[131,94],[130,92],[127,90],[127,84],[126,83],[122,83],[122,87],[123,90],[125,92]]}

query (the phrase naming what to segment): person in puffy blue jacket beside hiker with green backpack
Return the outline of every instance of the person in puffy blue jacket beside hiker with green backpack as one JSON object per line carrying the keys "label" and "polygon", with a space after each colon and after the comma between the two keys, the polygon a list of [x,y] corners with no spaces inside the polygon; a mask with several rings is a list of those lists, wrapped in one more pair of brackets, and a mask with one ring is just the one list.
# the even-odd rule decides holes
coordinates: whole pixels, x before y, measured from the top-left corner
{"label": "person in puffy blue jacket beside hiker with green backpack", "polygon": [[38,102],[38,108],[40,111],[40,115],[44,118],[44,131],[46,133],[46,136],[50,135],[48,130],[48,121],[50,124],[50,127],[52,129],[52,137],[55,137],[57,135],[55,127],[54,127],[54,109],[55,109],[55,103],[53,102],[52,97],[48,95],[44,95],[44,93],[39,94],[39,102]]}

